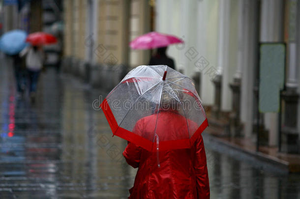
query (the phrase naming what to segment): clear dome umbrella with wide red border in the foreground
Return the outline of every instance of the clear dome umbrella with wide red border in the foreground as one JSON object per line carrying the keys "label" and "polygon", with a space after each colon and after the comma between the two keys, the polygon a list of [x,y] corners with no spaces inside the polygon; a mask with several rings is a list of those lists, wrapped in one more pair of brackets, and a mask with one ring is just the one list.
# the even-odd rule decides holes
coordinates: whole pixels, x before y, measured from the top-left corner
{"label": "clear dome umbrella with wide red border in the foreground", "polygon": [[190,148],[208,126],[193,81],[165,65],[131,70],[100,107],[113,135],[153,152]]}

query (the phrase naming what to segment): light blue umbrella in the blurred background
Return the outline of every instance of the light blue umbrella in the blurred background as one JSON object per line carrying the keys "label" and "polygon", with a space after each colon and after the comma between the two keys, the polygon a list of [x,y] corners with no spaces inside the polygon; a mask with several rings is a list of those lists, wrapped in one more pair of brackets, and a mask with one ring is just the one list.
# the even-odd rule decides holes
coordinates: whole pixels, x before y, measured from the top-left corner
{"label": "light blue umbrella in the blurred background", "polygon": [[0,50],[7,55],[16,55],[28,45],[26,37],[27,33],[23,30],[6,32],[0,37]]}

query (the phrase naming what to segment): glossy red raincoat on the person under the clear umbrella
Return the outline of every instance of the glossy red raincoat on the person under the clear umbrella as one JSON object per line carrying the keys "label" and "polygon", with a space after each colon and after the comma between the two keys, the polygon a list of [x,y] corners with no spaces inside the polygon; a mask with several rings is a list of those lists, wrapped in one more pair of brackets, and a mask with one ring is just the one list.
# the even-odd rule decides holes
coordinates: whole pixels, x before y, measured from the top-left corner
{"label": "glossy red raincoat on the person under the clear umbrella", "polygon": [[[147,131],[153,132],[156,118],[156,114],[153,114],[140,119],[134,127],[134,133],[141,135]],[[164,136],[180,139],[176,132],[186,128],[187,123],[180,114],[170,111],[161,111],[159,121],[162,121],[157,122],[159,140],[164,139]],[[165,131],[168,133],[162,133]],[[129,199],[210,198],[206,154],[201,135],[190,149],[160,151],[160,168],[156,152],[149,152],[131,142],[128,142],[123,156],[129,165],[139,168],[134,186],[129,190]]]}

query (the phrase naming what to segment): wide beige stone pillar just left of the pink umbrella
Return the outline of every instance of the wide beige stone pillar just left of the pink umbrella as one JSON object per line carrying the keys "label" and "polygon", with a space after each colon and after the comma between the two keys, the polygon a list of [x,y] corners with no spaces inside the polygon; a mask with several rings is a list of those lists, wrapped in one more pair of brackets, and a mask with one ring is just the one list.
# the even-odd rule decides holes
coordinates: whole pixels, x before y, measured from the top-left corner
{"label": "wide beige stone pillar just left of the pink umbrella", "polygon": [[106,65],[128,63],[128,0],[100,0],[93,54]]}

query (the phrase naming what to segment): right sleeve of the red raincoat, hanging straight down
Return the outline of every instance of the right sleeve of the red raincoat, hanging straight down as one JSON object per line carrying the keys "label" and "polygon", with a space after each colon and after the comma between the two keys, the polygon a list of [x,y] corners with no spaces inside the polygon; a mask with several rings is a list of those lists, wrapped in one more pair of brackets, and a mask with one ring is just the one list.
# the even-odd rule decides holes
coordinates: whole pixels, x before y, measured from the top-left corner
{"label": "right sleeve of the red raincoat, hanging straight down", "polygon": [[206,154],[203,144],[203,138],[200,135],[199,139],[195,142],[195,160],[194,170],[196,174],[197,183],[197,198],[209,199],[210,198],[210,183],[206,163]]}

